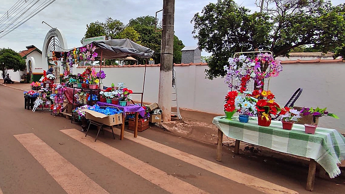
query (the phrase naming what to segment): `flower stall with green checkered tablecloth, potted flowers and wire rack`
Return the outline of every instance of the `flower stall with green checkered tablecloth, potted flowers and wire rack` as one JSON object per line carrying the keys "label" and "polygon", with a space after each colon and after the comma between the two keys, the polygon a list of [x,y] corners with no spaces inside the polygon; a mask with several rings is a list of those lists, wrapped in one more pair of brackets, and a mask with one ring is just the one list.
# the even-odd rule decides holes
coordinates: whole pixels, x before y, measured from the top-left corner
{"label": "flower stall with green checkered tablecloth, potted flowers and wire rack", "polygon": [[[330,178],[341,173],[337,164],[345,159],[344,136],[335,129],[317,126],[322,116],[338,117],[326,108],[280,107],[268,86],[264,89],[265,79],[276,77],[283,70],[280,61],[268,53],[256,52],[253,56],[229,58],[229,65],[224,66],[229,91],[225,96],[226,116],[213,119],[218,128],[216,160],[221,161],[223,134],[235,139],[235,154],[239,154],[242,141],[306,157],[310,161],[306,190],[313,191],[316,164]],[[249,83],[253,86],[248,87]],[[312,118],[310,123],[296,124],[307,116]]]}

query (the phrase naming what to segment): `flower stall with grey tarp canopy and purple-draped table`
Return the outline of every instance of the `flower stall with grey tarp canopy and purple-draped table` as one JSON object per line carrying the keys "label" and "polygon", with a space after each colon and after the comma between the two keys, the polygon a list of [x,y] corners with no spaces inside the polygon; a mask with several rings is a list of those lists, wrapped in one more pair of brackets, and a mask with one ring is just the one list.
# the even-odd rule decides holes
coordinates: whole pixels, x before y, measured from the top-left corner
{"label": "flower stall with grey tarp canopy and purple-draped table", "polygon": [[[76,110],[81,105],[87,104],[89,106],[92,106],[94,104],[97,104],[99,106],[117,107],[119,110],[123,111],[121,121],[122,130],[120,137],[120,139],[122,140],[126,113],[136,114],[136,122],[138,122],[139,120],[139,115],[141,115],[141,117],[145,116],[145,114],[142,114],[145,113],[145,109],[142,108],[141,105],[144,95],[146,67],[142,92],[133,93],[127,87],[112,86],[109,87],[109,89],[113,92],[116,91],[116,93],[120,94],[120,96],[116,96],[117,103],[115,103],[112,102],[112,100],[116,101],[115,96],[109,94],[107,99],[108,103],[106,103],[106,101],[103,101],[103,99],[105,100],[105,96],[103,95],[103,92],[105,91],[103,91],[102,79],[105,79],[106,74],[103,70],[101,70],[102,60],[127,58],[132,56],[150,58],[153,54],[154,51],[152,51],[151,49],[138,45],[137,43],[129,39],[94,41],[84,47],[54,51],[54,59],[61,60],[63,64],[66,64],[69,67],[66,68],[67,71],[65,72],[65,78],[68,79],[66,83],[69,86],[66,88],[65,96],[68,102],[72,105],[72,109],[75,110],[71,115],[72,120],[73,118],[80,118],[80,115],[76,113]],[[92,61],[97,60],[100,60],[99,72],[96,72],[95,68],[93,68]],[[86,68],[86,70],[82,74],[71,76],[70,70],[72,70],[72,67],[76,67],[82,63],[85,63],[85,61],[91,61],[91,66],[89,68]],[[108,91],[106,92],[108,93]],[[141,94],[140,105],[134,105],[133,101],[130,98],[130,94]],[[120,98],[122,99],[122,101],[119,100]],[[81,110],[78,111],[80,112]],[[137,137],[137,132],[138,127],[136,125],[134,137]]]}

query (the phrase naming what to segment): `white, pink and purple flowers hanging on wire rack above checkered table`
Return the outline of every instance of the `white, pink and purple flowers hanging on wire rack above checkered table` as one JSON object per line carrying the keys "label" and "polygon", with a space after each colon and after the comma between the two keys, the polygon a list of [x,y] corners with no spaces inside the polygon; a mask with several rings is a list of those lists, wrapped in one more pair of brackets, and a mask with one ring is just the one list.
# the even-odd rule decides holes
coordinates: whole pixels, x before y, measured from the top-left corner
{"label": "white, pink and purple flowers hanging on wire rack above checkered table", "polygon": [[[262,88],[263,80],[269,77],[277,77],[283,70],[279,60],[275,60],[270,54],[258,54],[253,60],[249,57],[241,55],[236,58],[229,58],[229,65],[224,66],[226,71],[225,83],[228,84],[230,90],[238,90],[243,93],[247,90],[247,84],[250,79],[256,81],[257,88]],[[265,72],[262,67],[267,65]],[[233,79],[240,80],[233,84]]]}

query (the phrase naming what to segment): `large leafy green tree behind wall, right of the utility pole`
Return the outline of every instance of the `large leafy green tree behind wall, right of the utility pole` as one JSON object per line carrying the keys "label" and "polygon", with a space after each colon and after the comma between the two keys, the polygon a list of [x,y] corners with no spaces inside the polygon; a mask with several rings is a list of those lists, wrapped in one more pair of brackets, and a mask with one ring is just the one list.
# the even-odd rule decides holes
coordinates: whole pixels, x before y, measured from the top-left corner
{"label": "large leafy green tree behind wall, right of the utility pole", "polygon": [[[209,3],[191,20],[200,49],[211,52],[206,78],[225,76],[223,66],[235,52],[269,50],[288,56],[308,45],[341,51],[345,42],[344,4],[324,0],[265,0],[262,13],[250,13],[233,0]],[[274,7],[271,7],[274,5]]]}

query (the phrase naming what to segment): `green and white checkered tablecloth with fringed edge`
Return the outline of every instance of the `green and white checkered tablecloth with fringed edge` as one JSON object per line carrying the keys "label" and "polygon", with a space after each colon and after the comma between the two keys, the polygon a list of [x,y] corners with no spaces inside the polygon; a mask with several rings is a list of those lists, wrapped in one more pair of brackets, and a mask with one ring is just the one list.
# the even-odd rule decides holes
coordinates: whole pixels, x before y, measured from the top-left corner
{"label": "green and white checkered tablecloth with fringed edge", "polygon": [[341,172],[337,164],[345,159],[345,137],[335,129],[317,127],[314,135],[306,134],[304,125],[294,124],[285,130],[282,122],[273,120],[269,127],[262,127],[257,120],[240,123],[238,119],[218,116],[213,119],[226,136],[273,149],[278,152],[313,158],[329,177]]}

